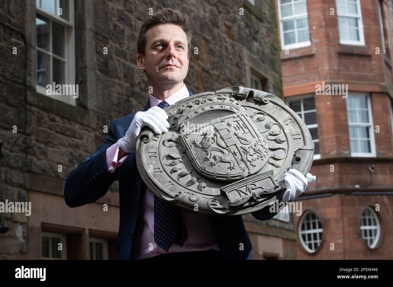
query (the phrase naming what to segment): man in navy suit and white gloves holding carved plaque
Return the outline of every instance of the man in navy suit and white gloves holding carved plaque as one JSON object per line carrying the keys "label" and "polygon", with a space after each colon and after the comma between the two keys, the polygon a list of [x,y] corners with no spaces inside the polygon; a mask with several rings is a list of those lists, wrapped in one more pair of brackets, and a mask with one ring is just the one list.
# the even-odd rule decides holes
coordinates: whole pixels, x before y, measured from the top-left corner
{"label": "man in navy suit and white gloves holding carved plaque", "polygon": [[[253,247],[240,215],[208,217],[171,207],[146,187],[136,167],[136,138],[142,127],[166,133],[169,124],[163,109],[192,95],[183,83],[191,38],[188,16],[180,11],[162,9],[145,21],[137,64],[152,87],[146,107],[112,121],[104,143],[66,180],[64,199],[70,207],[95,202],[119,180],[116,259],[252,259]],[[304,191],[307,179],[290,170],[285,183],[283,201],[289,201]],[[268,220],[277,214],[269,208],[252,214]]]}

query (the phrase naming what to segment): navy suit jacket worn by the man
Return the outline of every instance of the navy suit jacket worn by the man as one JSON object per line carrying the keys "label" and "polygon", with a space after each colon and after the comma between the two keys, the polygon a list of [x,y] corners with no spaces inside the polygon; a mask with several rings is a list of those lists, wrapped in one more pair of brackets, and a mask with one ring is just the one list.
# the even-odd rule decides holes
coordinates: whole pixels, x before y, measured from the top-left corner
{"label": "navy suit jacket worn by the man", "polygon": [[[190,96],[193,95],[189,91]],[[150,108],[147,101],[143,111]],[[113,120],[104,142],[68,176],[64,186],[64,200],[70,207],[95,202],[104,196],[108,187],[119,180],[120,225],[116,240],[116,259],[130,259],[132,242],[140,214],[140,197],[145,183],[136,167],[135,153],[131,153],[114,173],[107,167],[107,148],[125,136],[135,113]],[[270,213],[270,206],[253,212],[258,220],[269,220],[277,213]],[[244,227],[241,215],[229,217],[208,216],[220,253],[224,259],[252,259],[253,246]],[[239,250],[243,243],[243,250]]]}

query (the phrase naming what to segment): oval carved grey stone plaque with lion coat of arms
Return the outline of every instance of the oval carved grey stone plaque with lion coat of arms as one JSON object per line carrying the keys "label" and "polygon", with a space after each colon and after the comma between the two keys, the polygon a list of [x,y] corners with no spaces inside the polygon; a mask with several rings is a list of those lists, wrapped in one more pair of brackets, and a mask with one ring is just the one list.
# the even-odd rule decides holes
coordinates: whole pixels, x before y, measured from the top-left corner
{"label": "oval carved grey stone plaque with lion coat of arms", "polygon": [[309,130],[273,94],[227,87],[164,111],[169,131],[144,127],[136,163],[146,185],[170,205],[206,216],[251,213],[282,199],[288,169],[310,170]]}

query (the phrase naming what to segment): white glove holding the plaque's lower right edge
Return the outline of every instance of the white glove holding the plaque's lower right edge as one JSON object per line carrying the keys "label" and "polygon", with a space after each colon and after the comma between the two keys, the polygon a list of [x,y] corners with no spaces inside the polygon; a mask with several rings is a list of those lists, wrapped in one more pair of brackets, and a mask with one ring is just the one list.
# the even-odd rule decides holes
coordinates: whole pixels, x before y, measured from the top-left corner
{"label": "white glove holding the plaque's lower right edge", "polygon": [[286,191],[283,195],[283,202],[289,202],[297,198],[307,187],[307,183],[314,182],[316,176],[307,173],[306,176],[296,169],[290,169],[285,173],[284,182]]}

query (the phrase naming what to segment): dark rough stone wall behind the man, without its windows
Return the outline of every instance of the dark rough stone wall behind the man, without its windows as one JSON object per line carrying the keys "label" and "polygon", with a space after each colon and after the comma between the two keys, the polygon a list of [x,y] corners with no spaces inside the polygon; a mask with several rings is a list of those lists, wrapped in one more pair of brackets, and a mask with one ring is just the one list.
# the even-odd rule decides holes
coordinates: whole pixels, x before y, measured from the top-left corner
{"label": "dark rough stone wall behind the man, without its windows", "polygon": [[[34,192],[34,198],[39,192],[41,200],[50,204],[48,194],[62,196],[68,174],[103,142],[107,136],[103,127],[145,107],[148,84],[136,65],[136,42],[149,8],[156,12],[171,7],[189,15],[195,33],[185,84],[194,94],[247,86],[247,51],[267,67],[268,91],[281,96],[274,2],[255,2],[256,7],[248,1],[224,0],[75,1],[79,98],[73,106],[36,91],[35,1],[0,1],[0,139],[4,141],[0,201],[25,202],[29,192]],[[239,15],[241,8],[244,15]],[[103,47],[108,47],[108,54]],[[195,47],[198,54],[193,53]],[[113,195],[118,183],[109,190],[110,204],[118,207]],[[27,243],[30,219],[17,213],[0,217],[9,227],[0,234],[0,259],[23,258],[31,252]],[[40,238],[36,240],[39,244]]]}

